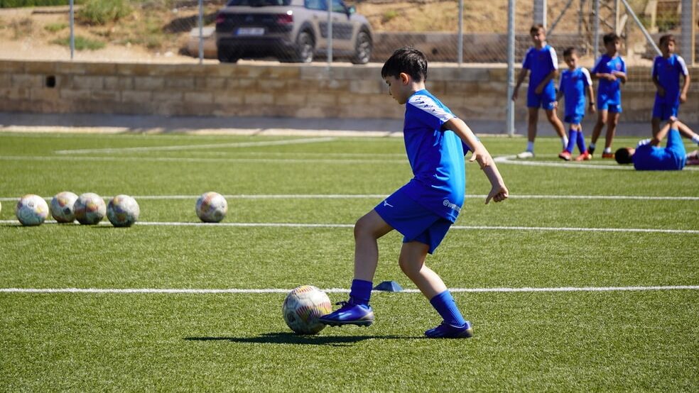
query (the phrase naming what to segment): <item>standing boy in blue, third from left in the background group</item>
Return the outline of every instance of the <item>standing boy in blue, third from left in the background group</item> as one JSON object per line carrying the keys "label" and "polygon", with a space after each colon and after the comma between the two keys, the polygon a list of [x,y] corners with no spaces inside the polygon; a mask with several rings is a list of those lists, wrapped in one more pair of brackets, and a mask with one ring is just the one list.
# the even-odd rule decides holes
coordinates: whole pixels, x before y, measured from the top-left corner
{"label": "standing boy in blue, third from left in the background group", "polygon": [[587,149],[590,154],[595,153],[595,143],[600,138],[602,128],[607,123],[607,135],[605,137],[605,150],[602,158],[614,158],[612,153],[612,140],[617,131],[619,114],[622,113],[622,83],[626,83],[626,63],[619,56],[621,38],[614,33],[606,34],[603,38],[607,53],[597,60],[595,68],[592,69],[592,79],[600,79],[597,87],[597,123],[592,130],[592,140]]}

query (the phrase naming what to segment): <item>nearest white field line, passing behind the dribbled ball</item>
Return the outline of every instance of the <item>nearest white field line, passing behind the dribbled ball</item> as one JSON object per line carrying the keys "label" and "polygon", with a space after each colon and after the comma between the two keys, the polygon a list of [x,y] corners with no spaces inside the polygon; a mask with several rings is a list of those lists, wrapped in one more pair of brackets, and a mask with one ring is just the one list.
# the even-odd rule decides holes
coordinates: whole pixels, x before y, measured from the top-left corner
{"label": "nearest white field line, passing behind the dribbled ball", "polygon": [[[622,292],[622,291],[674,291],[698,290],[699,285],[664,285],[652,287],[552,287],[552,288],[450,288],[450,292]],[[19,294],[286,294],[291,289],[190,289],[190,288],[0,288],[0,293]],[[350,289],[328,288],[328,293],[349,293]],[[381,292],[381,291],[374,291]],[[403,289],[404,293],[420,293],[418,289]]]}

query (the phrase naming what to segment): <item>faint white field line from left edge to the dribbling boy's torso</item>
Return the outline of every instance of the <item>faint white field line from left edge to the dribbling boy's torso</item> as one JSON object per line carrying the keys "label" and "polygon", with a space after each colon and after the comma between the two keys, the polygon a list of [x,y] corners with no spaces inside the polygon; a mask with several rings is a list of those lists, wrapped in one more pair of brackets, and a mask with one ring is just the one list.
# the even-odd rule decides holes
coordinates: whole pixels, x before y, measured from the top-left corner
{"label": "faint white field line from left edge to the dribbling boy's torso", "polygon": [[298,163],[323,163],[336,165],[357,165],[357,164],[408,164],[405,159],[401,160],[367,160],[367,159],[346,159],[332,160],[321,158],[199,158],[199,157],[90,157],[90,156],[70,156],[70,155],[1,155],[0,160],[6,161],[98,161],[98,162],[280,162],[283,164]]}

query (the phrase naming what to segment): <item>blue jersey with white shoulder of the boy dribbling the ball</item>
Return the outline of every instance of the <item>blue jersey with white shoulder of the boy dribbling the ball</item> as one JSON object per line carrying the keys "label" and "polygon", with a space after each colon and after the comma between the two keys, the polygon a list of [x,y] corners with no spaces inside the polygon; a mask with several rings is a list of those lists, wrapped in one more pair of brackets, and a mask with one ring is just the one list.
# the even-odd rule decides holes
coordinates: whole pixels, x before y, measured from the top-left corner
{"label": "blue jersey with white shoulder of the boy dribbling the ball", "polygon": [[464,155],[467,145],[444,123],[454,114],[427,90],[406,103],[403,138],[413,179],[402,191],[409,198],[451,222],[456,221],[466,192]]}

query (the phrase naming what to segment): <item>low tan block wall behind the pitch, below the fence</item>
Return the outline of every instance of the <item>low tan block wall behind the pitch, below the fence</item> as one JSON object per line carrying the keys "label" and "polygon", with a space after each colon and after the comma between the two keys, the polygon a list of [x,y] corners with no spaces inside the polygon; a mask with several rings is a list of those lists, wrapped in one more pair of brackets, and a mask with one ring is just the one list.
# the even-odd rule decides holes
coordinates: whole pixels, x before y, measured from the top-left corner
{"label": "low tan block wall behind the pitch, below the fence", "polygon": [[[260,63],[170,65],[0,61],[0,111],[28,113],[158,114],[401,118],[387,94],[381,65]],[[690,74],[699,75],[699,67]],[[430,65],[428,89],[465,119],[502,120],[504,65]],[[622,121],[646,121],[654,86],[648,67],[629,69]],[[523,92],[524,93],[524,90]],[[526,118],[525,94],[516,118]],[[681,118],[699,122],[699,82]]]}

